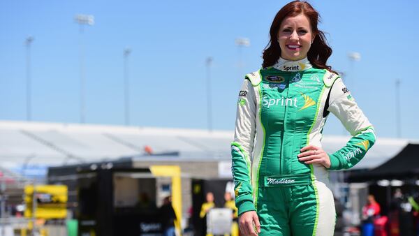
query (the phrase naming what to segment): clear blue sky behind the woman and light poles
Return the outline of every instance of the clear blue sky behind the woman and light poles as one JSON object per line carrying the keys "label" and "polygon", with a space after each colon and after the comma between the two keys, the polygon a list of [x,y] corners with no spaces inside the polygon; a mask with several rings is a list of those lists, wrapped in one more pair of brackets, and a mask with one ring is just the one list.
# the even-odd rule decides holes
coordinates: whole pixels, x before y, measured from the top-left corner
{"label": "clear blue sky behind the woman and light poles", "polygon": [[[130,120],[135,126],[207,128],[205,58],[213,57],[214,129],[233,130],[244,73],[258,70],[274,15],[288,1],[1,1],[0,119],[26,119],[26,57],[31,47],[34,121],[80,121],[80,34],[86,27],[86,122],[124,124],[123,57],[129,57]],[[395,80],[402,80],[402,138],[419,139],[418,1],[309,1],[333,49],[328,64],[376,126],[396,137]],[[246,37],[243,65],[235,38]],[[360,52],[351,68],[348,52]],[[326,134],[341,135],[335,117]]]}

